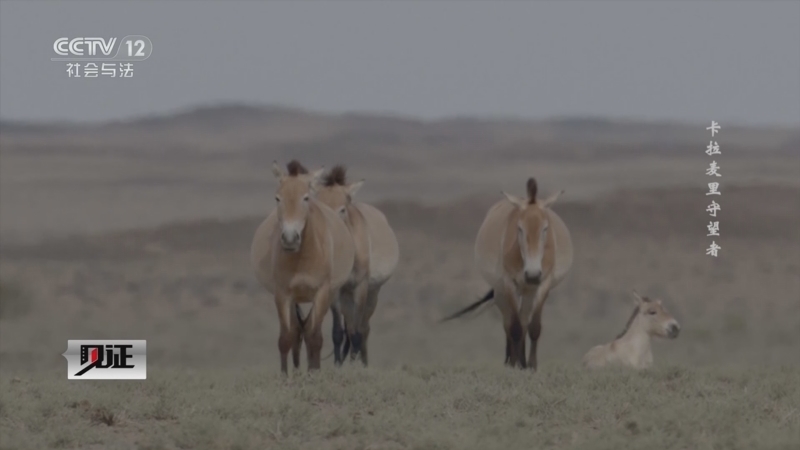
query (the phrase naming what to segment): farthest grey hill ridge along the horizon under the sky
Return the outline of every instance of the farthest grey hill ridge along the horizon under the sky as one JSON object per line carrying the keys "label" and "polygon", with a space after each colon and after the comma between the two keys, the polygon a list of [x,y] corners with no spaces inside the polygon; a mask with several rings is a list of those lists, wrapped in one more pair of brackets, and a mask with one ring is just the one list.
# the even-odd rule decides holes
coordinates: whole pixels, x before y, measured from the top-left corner
{"label": "farthest grey hill ridge along the horizon under the sky", "polygon": [[[386,151],[436,152],[443,157],[487,152],[498,158],[591,159],[656,154],[696,154],[709,139],[706,124],[648,122],[603,117],[544,120],[448,117],[436,120],[389,113],[323,113],[282,105],[219,103],[168,114],[105,123],[0,121],[4,152],[265,151],[278,157],[330,152],[352,157]],[[757,150],[800,154],[800,127],[756,128],[722,124],[728,154]],[[609,151],[613,149],[613,152]],[[393,164],[388,160],[386,164]]]}

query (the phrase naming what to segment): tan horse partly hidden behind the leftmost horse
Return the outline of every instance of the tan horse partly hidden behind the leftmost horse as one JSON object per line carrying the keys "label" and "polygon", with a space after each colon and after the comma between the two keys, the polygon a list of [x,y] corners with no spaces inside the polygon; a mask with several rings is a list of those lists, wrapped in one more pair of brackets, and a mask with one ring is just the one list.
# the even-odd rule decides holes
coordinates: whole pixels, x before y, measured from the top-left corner
{"label": "tan horse partly hidden behind the leftmost horse", "polygon": [[343,166],[333,167],[316,187],[316,197],[339,214],[355,243],[353,271],[340,291],[339,301],[331,305],[334,359],[337,365],[341,365],[352,345],[351,358],[360,355],[366,366],[369,321],[375,312],[381,287],[397,267],[400,250],[386,216],[371,205],[353,202],[353,196],[364,181],[348,184],[346,177],[347,170]]}

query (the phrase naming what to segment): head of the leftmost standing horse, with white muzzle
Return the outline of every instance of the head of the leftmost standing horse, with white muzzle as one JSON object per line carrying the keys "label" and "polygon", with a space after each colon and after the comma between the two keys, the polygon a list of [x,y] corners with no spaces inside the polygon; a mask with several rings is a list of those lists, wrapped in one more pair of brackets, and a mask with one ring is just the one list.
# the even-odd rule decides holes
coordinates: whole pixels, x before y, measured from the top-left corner
{"label": "head of the leftmost standing horse, with white muzzle", "polygon": [[316,179],[324,169],[309,173],[302,164],[293,160],[284,171],[277,162],[272,164],[272,172],[278,178],[277,202],[280,223],[281,247],[287,252],[297,252],[303,244],[303,229],[308,219],[310,195]]}

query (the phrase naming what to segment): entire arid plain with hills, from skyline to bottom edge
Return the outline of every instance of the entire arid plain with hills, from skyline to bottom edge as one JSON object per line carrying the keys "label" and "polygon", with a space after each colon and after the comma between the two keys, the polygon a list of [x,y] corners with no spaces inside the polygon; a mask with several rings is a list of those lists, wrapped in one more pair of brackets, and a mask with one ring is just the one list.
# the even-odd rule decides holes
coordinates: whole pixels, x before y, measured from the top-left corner
{"label": "entire arid plain with hills, from skyline to bottom edge", "polygon": [[[218,106],[97,126],[0,126],[0,448],[796,448],[800,129],[564,119],[422,122]],[[249,265],[273,160],[343,163],[401,259],[369,368],[279,377]],[[722,177],[705,171],[715,160]],[[575,262],[537,373],[506,369],[473,242],[528,176]],[[722,247],[707,256],[715,200]],[[587,373],[635,288],[683,327],[656,368]],[[331,350],[330,318],[323,355]],[[71,382],[68,339],[147,339],[143,382]]]}

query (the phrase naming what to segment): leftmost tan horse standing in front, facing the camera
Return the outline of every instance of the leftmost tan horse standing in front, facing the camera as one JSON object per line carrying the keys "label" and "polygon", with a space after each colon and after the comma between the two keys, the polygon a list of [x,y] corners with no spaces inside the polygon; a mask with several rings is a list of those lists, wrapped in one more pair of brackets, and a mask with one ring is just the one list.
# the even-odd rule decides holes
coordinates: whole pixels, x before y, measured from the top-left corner
{"label": "leftmost tan horse standing in front, facing the camera", "polygon": [[[350,277],[355,255],[347,226],[312,196],[323,169],[308,174],[297,161],[290,162],[287,169],[288,173],[273,164],[280,183],[275,196],[277,207],[259,225],[250,249],[256,277],[275,296],[284,374],[290,349],[294,366],[299,367],[303,340],[309,371],[319,369],[322,320]],[[292,309],[297,303],[307,302],[312,306],[303,321],[292,314]]]}

